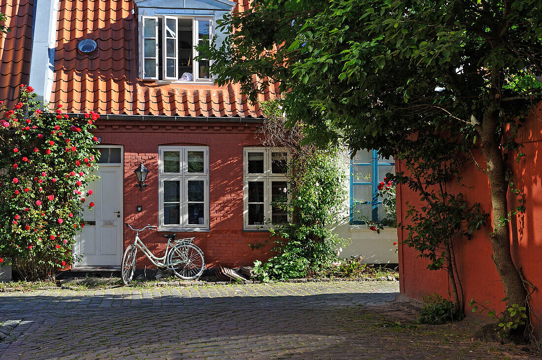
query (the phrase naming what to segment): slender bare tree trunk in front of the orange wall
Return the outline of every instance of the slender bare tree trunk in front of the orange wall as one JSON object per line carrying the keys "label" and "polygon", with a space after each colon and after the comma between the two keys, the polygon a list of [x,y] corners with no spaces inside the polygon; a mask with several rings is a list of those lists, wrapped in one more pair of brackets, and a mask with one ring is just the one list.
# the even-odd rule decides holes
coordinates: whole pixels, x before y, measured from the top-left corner
{"label": "slender bare tree trunk in front of the orange wall", "polygon": [[[482,125],[478,128],[482,139],[482,151],[487,162],[491,203],[493,208],[493,235],[489,238],[493,248],[493,261],[506,293],[506,307],[513,304],[527,307],[527,293],[510,252],[508,222],[508,181],[505,162],[498,138],[498,113],[487,110]],[[505,316],[507,314],[505,313]],[[521,328],[521,329],[519,329]],[[519,326],[523,332],[525,326]]]}

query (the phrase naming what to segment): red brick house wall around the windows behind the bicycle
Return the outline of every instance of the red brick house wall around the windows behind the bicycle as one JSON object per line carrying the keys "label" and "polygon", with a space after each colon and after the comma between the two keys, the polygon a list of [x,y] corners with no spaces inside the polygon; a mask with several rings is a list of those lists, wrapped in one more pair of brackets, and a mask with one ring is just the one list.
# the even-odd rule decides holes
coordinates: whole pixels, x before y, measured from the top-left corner
{"label": "red brick house wall around the windows behind the bicycle", "polygon": [[[134,228],[158,224],[158,146],[204,145],[209,147],[211,230],[177,231],[177,237],[195,237],[207,267],[252,265],[256,259],[272,256],[270,244],[257,250],[249,246],[268,240],[268,232],[243,231],[243,147],[259,145],[254,123],[99,120],[97,124],[94,133],[101,136],[102,145],[124,146],[124,222]],[[150,171],[146,181],[149,186],[143,191],[134,186],[133,172],[141,161]],[[138,205],[143,205],[143,212],[136,211]],[[126,248],[134,233],[123,228]],[[164,233],[171,231],[146,231],[140,238],[159,253],[167,242]],[[145,265],[151,266],[150,261],[138,257],[137,267]]]}

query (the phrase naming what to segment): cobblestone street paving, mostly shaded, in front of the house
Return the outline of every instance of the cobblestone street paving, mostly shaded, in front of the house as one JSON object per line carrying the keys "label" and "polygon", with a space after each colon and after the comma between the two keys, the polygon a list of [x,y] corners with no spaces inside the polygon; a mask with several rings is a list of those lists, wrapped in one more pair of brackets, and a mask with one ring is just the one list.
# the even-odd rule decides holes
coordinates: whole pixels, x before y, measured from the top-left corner
{"label": "cobblestone street paving, mostly shaded, in front of the house", "polygon": [[394,282],[0,294],[1,359],[532,358],[416,325]]}

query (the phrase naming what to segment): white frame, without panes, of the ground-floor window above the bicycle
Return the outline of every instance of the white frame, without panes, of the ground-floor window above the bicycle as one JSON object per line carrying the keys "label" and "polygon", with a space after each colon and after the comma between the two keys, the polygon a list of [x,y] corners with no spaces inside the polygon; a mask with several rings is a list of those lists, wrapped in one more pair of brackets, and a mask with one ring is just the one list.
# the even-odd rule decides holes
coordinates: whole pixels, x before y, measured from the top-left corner
{"label": "white frame, without panes, of the ground-floor window above the bicycle", "polygon": [[[179,152],[179,173],[164,172],[164,152]],[[188,152],[203,151],[203,172],[188,172]],[[188,224],[188,181],[203,181],[203,224]],[[180,224],[164,224],[164,181],[179,181]],[[158,231],[208,231],[209,214],[209,148],[206,146],[160,146],[158,148]]]}

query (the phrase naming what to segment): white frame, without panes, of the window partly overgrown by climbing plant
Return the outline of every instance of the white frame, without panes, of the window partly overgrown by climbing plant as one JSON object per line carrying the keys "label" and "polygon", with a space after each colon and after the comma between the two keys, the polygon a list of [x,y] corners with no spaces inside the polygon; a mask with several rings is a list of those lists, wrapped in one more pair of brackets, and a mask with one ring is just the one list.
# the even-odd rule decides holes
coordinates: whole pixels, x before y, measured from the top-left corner
{"label": "white frame, without panes, of the window partly overgrown by climbing plant", "polygon": [[[263,153],[263,173],[261,174],[249,174],[248,173],[248,153],[261,152]],[[272,182],[273,181],[286,181],[288,178],[286,174],[274,174],[272,173],[272,153],[287,153],[287,163],[289,165],[289,152],[287,148],[265,148],[265,147],[244,147],[243,148],[243,230],[261,230],[267,231],[270,227],[268,222],[272,219]],[[288,170],[289,171],[289,170]],[[263,181],[263,208],[264,208],[264,222],[262,225],[249,225],[248,224],[248,183],[250,181]],[[291,194],[287,195],[288,203],[291,199]],[[288,221],[290,221],[290,214],[288,213]]]}

